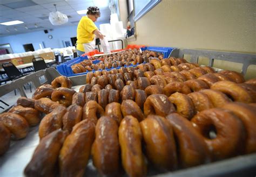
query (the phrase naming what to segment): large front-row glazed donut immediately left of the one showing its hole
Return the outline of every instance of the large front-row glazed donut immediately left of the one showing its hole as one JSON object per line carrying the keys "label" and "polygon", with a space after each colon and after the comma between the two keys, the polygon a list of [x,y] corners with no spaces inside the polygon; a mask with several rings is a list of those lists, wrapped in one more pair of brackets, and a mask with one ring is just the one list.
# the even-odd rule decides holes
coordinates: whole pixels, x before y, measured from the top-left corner
{"label": "large front-row glazed donut immediately left of the one showing its hole", "polygon": [[177,113],[166,116],[166,119],[171,124],[179,144],[177,156],[182,168],[205,164],[211,161],[211,154],[204,141],[204,137],[194,129],[190,121]]}

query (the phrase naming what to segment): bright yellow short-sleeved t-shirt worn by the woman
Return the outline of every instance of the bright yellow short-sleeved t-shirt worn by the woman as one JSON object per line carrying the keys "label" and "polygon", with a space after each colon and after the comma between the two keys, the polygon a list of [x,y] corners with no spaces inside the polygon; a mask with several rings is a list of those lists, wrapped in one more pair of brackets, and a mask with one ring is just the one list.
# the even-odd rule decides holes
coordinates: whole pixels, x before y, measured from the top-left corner
{"label": "bright yellow short-sleeved t-shirt worn by the woman", "polygon": [[93,31],[97,30],[97,26],[90,18],[84,16],[80,19],[77,26],[77,49],[84,52],[84,43],[91,43],[95,34]]}

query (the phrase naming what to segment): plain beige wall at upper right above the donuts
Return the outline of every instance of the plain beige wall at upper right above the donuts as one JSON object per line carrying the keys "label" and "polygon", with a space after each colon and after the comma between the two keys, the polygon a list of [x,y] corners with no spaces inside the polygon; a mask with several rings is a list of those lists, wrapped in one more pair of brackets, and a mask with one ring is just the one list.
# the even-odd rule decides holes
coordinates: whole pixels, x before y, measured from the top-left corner
{"label": "plain beige wall at upper right above the donuts", "polygon": [[136,34],[129,44],[256,53],[256,1],[162,0]]}

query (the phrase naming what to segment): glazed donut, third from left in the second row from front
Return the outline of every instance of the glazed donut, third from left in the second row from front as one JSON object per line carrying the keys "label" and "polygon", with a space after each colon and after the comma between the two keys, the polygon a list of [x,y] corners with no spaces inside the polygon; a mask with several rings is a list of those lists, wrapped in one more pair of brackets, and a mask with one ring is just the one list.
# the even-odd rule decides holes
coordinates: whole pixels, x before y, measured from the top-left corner
{"label": "glazed donut, third from left in the second row from front", "polygon": [[104,116],[104,109],[96,102],[89,101],[83,107],[83,119],[89,119],[95,125],[100,117]]}

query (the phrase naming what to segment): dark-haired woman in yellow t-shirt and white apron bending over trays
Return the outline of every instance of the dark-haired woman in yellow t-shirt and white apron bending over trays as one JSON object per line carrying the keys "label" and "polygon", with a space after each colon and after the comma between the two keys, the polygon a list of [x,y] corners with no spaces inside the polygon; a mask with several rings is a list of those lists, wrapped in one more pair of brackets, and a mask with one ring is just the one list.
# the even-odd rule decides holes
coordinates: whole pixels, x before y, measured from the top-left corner
{"label": "dark-haired woman in yellow t-shirt and white apron bending over trays", "polygon": [[95,49],[96,37],[104,39],[104,35],[98,30],[94,23],[100,17],[99,8],[90,6],[87,10],[87,16],[82,17],[77,26],[76,48],[79,56]]}

